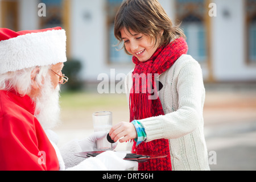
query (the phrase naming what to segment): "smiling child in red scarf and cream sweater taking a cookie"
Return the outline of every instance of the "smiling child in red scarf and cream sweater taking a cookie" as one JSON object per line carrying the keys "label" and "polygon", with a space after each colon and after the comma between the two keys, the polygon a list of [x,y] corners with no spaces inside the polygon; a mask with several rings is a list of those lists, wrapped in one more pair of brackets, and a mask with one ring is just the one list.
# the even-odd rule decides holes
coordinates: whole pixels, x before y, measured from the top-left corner
{"label": "smiling child in red scarf and cream sweater taking a cookie", "polygon": [[126,77],[130,123],[114,125],[110,137],[134,139],[132,152],[167,155],[139,163],[139,170],[209,170],[203,76],[199,63],[186,55],[183,31],[157,0],[126,0],[115,16],[114,34],[133,55],[135,68]]}

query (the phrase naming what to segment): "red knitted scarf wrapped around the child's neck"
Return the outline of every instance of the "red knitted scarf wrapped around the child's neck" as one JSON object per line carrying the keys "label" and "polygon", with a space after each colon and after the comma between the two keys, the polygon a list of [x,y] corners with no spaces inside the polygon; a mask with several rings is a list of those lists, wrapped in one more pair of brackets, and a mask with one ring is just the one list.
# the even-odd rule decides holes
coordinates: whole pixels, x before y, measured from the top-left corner
{"label": "red knitted scarf wrapped around the child's neck", "polygon": [[[144,119],[164,115],[162,104],[157,93],[155,74],[160,75],[167,71],[175,61],[188,51],[187,43],[183,38],[176,39],[167,46],[156,49],[156,52],[146,62],[140,62],[133,56],[135,69],[133,72],[133,87],[130,92],[130,122],[134,119]],[[137,77],[135,74],[137,74]],[[148,73],[151,73],[148,75]],[[135,80],[140,77],[141,81]],[[152,84],[154,83],[154,84]],[[157,97],[152,97],[153,94]],[[137,154],[167,155],[166,158],[151,159],[139,163],[139,171],[171,171],[170,146],[168,139],[156,139],[151,142],[142,142],[136,147],[134,141],[132,152]]]}

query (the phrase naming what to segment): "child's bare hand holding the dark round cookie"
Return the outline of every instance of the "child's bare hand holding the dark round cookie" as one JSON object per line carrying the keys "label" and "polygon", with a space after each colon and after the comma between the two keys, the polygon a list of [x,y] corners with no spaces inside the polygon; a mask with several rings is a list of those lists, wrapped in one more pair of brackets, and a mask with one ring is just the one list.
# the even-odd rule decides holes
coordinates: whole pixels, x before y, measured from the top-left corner
{"label": "child's bare hand holding the dark round cookie", "polygon": [[119,140],[119,142],[122,143],[126,142],[127,140],[137,138],[137,131],[132,123],[119,122],[117,125],[114,125],[112,129],[110,129],[109,135],[114,142],[117,142],[119,138],[123,137]]}

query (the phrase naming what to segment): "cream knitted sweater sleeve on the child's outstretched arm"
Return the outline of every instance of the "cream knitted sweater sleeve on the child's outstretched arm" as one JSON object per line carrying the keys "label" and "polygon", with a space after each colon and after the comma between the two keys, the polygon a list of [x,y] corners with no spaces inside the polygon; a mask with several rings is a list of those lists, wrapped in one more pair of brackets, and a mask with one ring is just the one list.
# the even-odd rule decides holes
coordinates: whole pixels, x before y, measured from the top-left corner
{"label": "cream knitted sweater sleeve on the child's outstretched arm", "polygon": [[160,138],[179,138],[199,126],[204,102],[201,67],[197,61],[187,61],[176,71],[178,73],[174,76],[172,84],[176,85],[179,107],[165,115],[139,120],[146,131],[146,142]]}

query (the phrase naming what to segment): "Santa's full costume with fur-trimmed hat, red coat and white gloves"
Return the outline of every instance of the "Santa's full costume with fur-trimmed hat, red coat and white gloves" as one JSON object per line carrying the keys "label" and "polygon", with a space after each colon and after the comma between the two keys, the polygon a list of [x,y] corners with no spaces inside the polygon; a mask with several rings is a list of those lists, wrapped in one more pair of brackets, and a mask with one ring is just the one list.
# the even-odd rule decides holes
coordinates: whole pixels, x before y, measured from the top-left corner
{"label": "Santa's full costume with fur-trimmed hat, red coat and white gloves", "polygon": [[[8,72],[67,61],[66,39],[61,27],[18,32],[0,28],[0,76],[6,78],[1,80],[1,89],[6,89]],[[57,134],[43,130],[34,114],[35,102],[29,96],[0,90],[0,170],[125,170],[134,166],[135,162],[123,160],[126,154],[122,152],[108,151],[86,160],[74,155],[95,150],[96,140],[105,133],[59,148]]]}

